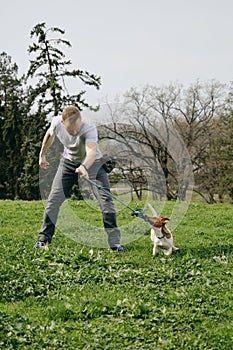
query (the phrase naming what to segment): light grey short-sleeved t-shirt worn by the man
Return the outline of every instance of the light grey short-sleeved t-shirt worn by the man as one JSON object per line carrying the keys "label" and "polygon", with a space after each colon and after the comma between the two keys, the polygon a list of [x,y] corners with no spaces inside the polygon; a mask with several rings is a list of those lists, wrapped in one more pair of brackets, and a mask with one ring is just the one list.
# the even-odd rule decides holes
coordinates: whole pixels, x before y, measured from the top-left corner
{"label": "light grey short-sleeved t-shirt worn by the man", "polygon": [[53,117],[50,125],[50,135],[56,136],[64,146],[64,158],[74,163],[82,163],[86,156],[85,145],[87,142],[96,142],[96,159],[102,157],[98,146],[97,128],[91,121],[82,118],[80,130],[75,136],[68,133],[61,121],[61,115]]}

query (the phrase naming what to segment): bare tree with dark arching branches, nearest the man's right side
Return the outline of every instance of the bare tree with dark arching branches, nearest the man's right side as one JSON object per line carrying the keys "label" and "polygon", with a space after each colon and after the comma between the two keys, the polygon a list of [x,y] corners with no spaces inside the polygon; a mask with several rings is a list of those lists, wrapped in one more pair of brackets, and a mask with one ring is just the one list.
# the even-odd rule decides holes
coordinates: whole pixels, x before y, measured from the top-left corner
{"label": "bare tree with dark arching branches, nearest the man's right side", "polygon": [[[112,123],[104,126],[105,134],[101,135],[125,145],[123,158],[127,161],[124,167],[129,169],[126,178],[129,181],[138,179],[138,169],[143,169],[140,174],[141,179],[144,179],[143,189],[151,191],[154,198],[181,197],[176,155],[173,155],[175,145],[179,148],[180,140],[170,121],[178,94],[179,87],[173,86],[157,88],[147,85],[142,91],[130,89],[123,103],[118,104],[118,111],[112,114]],[[125,124],[122,120],[125,120]],[[122,152],[118,152],[119,156],[122,157]],[[180,162],[178,159],[181,168]],[[182,166],[186,164],[182,163]],[[132,176],[133,173],[135,176]],[[138,186],[138,191],[134,187],[135,192],[140,193],[142,182],[135,181],[134,184]]]}

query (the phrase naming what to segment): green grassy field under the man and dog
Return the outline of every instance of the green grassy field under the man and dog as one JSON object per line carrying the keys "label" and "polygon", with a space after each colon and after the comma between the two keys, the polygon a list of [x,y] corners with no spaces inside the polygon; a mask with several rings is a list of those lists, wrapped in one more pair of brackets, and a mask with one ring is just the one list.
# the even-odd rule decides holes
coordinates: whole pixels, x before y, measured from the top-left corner
{"label": "green grassy field under the man and dog", "polygon": [[[70,203],[101,227],[85,202]],[[65,227],[35,251],[43,203],[0,201],[0,213],[1,349],[232,349],[231,205],[192,203],[170,257],[152,256],[149,226],[123,237],[126,253],[81,245]],[[140,220],[118,214],[133,231]]]}

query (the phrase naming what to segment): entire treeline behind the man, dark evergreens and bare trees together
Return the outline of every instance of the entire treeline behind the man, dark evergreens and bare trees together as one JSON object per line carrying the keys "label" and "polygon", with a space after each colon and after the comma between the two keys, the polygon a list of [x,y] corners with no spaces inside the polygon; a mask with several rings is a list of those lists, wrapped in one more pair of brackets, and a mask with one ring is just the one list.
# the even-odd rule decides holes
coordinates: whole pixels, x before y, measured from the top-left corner
{"label": "entire treeline behind the man, dark evergreens and bare trees together", "polygon": [[[71,69],[64,34],[36,25],[21,77],[11,57],[0,54],[1,199],[40,199],[38,154],[49,118],[69,104],[94,109],[85,88],[99,89],[100,77]],[[75,95],[67,90],[70,79],[80,82]],[[186,200],[194,190],[208,203],[233,201],[232,87],[215,81],[148,85],[109,105],[99,135],[117,161],[112,180],[127,179],[139,199],[146,190],[155,199]]]}

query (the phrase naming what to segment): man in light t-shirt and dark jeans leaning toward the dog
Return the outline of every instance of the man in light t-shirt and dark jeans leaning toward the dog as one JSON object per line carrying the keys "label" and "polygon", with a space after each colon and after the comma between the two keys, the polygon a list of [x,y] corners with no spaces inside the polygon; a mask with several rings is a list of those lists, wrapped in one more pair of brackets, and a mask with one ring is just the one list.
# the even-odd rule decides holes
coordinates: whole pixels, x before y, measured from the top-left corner
{"label": "man in light t-shirt and dark jeans leaning toward the dog", "polygon": [[[102,166],[96,126],[83,120],[77,107],[66,107],[62,115],[52,119],[39,154],[39,165],[43,169],[49,167],[46,151],[55,137],[64,146],[64,152],[53,180],[44,211],[43,224],[34,248],[51,243],[60,206],[68,198],[73,185],[78,183],[79,176],[87,178],[90,176],[90,179],[97,180],[105,190],[110,192],[107,173]],[[94,190],[94,193],[102,210],[103,224],[108,235],[110,249],[124,251],[124,247],[120,244],[121,235],[117,227],[116,212],[111,196],[101,190]]]}

